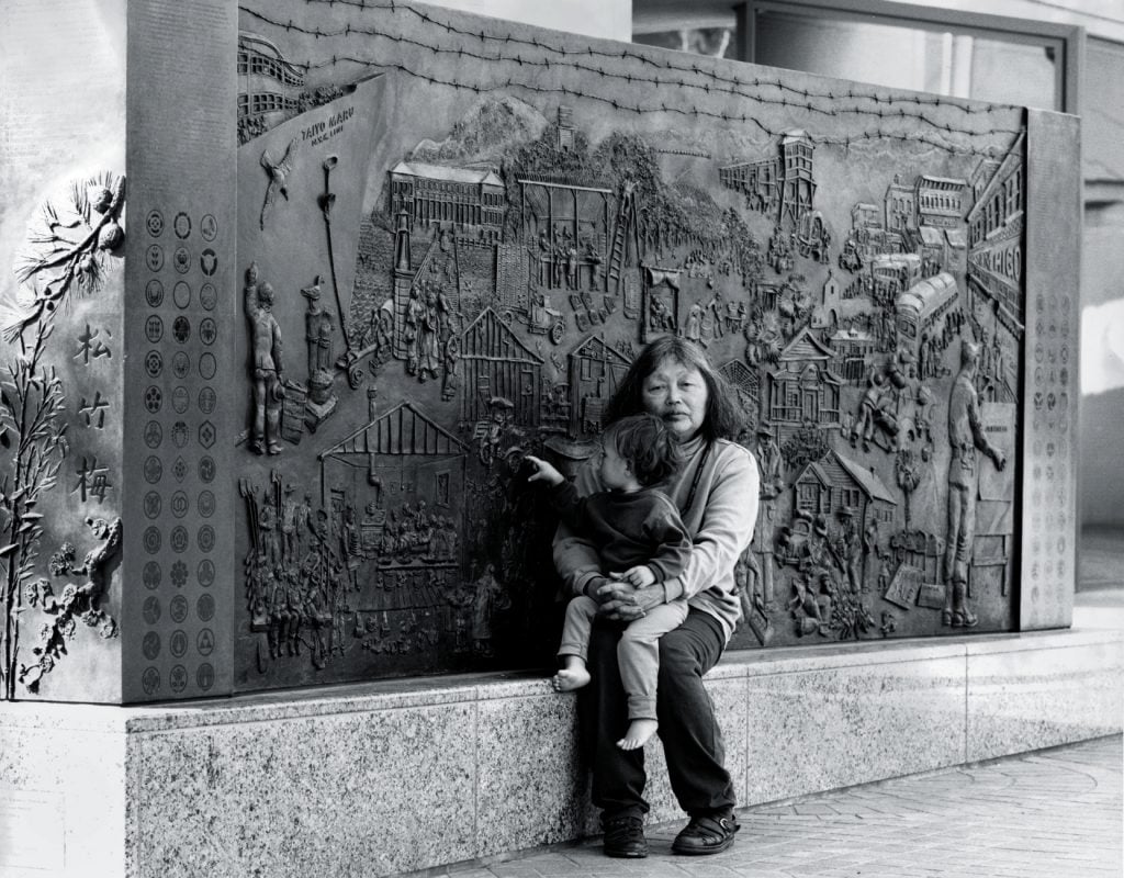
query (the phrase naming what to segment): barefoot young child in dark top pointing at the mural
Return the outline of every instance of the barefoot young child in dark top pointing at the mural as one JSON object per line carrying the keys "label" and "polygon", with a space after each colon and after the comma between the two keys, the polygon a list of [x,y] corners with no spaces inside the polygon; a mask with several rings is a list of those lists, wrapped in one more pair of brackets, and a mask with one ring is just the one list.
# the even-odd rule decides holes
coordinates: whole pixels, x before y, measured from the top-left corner
{"label": "barefoot young child in dark top pointing at the mural", "polygon": [[[551,503],[575,533],[591,540],[600,556],[601,578],[589,592],[610,579],[644,588],[682,572],[691,537],[679,510],[654,486],[679,468],[679,446],[654,415],[632,415],[614,422],[601,436],[598,468],[606,490],[579,497],[578,490],[546,461],[527,456],[535,467],[528,481],[551,486]],[[598,603],[587,596],[566,607],[559,657],[564,667],[554,677],[559,691],[589,682],[586,655]],[[628,696],[628,731],[617,741],[622,750],[643,746],[655,733],[655,687],[660,671],[660,637],[687,617],[687,599],[677,598],[631,622],[617,646],[620,682]]]}

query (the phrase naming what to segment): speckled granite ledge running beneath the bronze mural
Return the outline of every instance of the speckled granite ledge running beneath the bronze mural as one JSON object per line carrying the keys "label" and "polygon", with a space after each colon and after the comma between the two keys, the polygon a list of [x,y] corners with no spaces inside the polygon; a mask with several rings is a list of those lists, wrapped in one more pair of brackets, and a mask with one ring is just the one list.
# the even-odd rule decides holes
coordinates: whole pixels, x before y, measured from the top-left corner
{"label": "speckled granite ledge running beneath the bronze mural", "polygon": [[[1124,634],[1053,631],[731,652],[707,685],[738,799],[758,804],[1117,733],[1122,679]],[[7,704],[0,784],[58,803],[65,857],[0,851],[0,872],[392,875],[564,842],[597,829],[575,722],[538,673]],[[647,757],[650,820],[676,818],[658,744]],[[10,826],[34,829],[30,812]]]}

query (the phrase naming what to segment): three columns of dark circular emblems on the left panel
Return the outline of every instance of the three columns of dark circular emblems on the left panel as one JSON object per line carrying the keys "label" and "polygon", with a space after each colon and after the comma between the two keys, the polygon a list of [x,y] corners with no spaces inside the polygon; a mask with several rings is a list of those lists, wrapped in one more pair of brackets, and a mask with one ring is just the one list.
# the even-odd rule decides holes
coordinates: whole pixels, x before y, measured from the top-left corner
{"label": "three columns of dark circular emblems on the left panel", "polygon": [[[181,211],[165,237],[164,217],[152,210],[146,228],[153,241],[145,262],[153,277],[145,288],[149,310],[144,333],[149,350],[144,359],[148,453],[143,465],[143,509],[148,524],[143,543],[148,558],[142,579],[151,594],[142,605],[148,625],[142,652],[151,663],[142,673],[142,688],[148,696],[164,686],[172,695],[192,686],[207,693],[216,680],[210,660],[216,648],[216,605],[210,590],[216,531],[210,519],[217,508],[217,469],[210,452],[218,438],[212,420],[218,395],[210,381],[218,371],[214,353],[218,293],[212,279],[219,257],[210,245],[218,224],[207,214],[197,226]],[[169,242],[171,254],[165,254],[162,238]],[[192,579],[198,588],[191,587]],[[163,598],[169,595],[165,606]],[[165,612],[170,624],[161,626]],[[164,643],[167,627],[172,631]],[[164,680],[161,667],[169,662]]]}

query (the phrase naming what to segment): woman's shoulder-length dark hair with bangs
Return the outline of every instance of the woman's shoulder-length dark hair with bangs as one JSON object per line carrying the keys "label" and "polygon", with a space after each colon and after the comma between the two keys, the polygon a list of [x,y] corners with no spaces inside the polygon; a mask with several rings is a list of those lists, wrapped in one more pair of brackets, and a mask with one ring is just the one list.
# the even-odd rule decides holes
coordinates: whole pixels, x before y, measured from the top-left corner
{"label": "woman's shoulder-length dark hair with bangs", "polygon": [[644,381],[667,361],[688,369],[697,369],[706,381],[707,410],[700,429],[703,436],[709,441],[736,438],[744,418],[734,401],[734,391],[726,383],[726,379],[710,365],[701,347],[674,335],[662,335],[640,352],[617,386],[617,392],[605,407],[605,423],[611,424],[628,415],[646,411]]}

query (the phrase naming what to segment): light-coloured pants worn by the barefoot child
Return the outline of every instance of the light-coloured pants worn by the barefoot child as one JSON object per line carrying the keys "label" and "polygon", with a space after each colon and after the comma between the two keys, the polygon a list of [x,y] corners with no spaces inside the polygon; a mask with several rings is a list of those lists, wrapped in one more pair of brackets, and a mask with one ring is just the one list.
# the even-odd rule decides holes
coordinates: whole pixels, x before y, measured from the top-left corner
{"label": "light-coloured pants worn by the barefoot child", "polygon": [[[589,650],[589,633],[599,604],[590,597],[573,598],[565,608],[559,655],[577,655],[582,661]],[[660,604],[628,623],[617,644],[620,684],[628,695],[629,719],[655,719],[655,685],[660,676],[660,637],[687,618],[687,600]]]}

